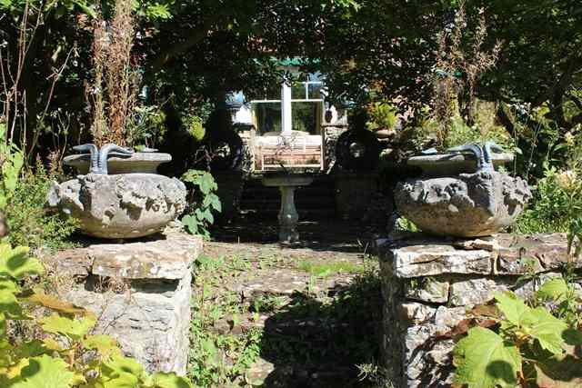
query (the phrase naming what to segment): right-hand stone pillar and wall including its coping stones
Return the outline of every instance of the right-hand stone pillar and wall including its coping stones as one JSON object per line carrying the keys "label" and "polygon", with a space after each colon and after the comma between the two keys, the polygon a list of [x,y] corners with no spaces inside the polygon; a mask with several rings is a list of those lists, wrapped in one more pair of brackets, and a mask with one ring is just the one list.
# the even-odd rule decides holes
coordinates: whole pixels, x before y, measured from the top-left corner
{"label": "right-hand stone pillar and wall including its coping stones", "polygon": [[381,349],[395,386],[451,386],[457,323],[497,291],[527,298],[547,279],[561,276],[566,246],[565,234],[473,240],[409,234],[382,244]]}

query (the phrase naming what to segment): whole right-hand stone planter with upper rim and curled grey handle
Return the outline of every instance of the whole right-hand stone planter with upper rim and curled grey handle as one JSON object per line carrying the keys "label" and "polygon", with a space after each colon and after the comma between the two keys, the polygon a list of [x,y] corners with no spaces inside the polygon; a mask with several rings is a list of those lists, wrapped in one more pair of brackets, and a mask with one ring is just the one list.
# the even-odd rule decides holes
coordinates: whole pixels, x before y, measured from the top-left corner
{"label": "whole right-hand stone planter with upper rim and curled grey handle", "polygon": [[420,167],[423,174],[396,185],[398,213],[422,231],[437,235],[485,236],[513,224],[531,198],[527,183],[495,171],[494,166],[507,163],[511,155],[487,154],[487,146],[470,147],[477,157],[411,158],[408,164]]}

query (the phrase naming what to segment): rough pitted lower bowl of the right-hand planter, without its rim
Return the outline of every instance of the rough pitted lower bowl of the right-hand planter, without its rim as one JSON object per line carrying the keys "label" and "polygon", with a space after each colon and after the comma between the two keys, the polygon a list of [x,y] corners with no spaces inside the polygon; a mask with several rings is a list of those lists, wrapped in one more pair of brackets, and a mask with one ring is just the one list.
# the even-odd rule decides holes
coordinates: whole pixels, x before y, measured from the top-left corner
{"label": "rough pitted lower bowl of the right-hand planter, without its rim", "polygon": [[507,174],[481,171],[410,179],[396,186],[398,212],[430,234],[474,237],[514,223],[531,192]]}

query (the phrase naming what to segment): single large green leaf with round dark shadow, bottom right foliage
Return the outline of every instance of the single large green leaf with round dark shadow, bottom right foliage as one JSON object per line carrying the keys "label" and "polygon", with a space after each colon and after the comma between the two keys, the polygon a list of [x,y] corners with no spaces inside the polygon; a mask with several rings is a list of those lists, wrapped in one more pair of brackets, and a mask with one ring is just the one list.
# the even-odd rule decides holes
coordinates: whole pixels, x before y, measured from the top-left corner
{"label": "single large green leaf with round dark shadow, bottom right foliage", "polygon": [[517,347],[483,327],[469,329],[467,337],[457,343],[453,363],[457,366],[455,383],[468,388],[513,388],[521,371]]}

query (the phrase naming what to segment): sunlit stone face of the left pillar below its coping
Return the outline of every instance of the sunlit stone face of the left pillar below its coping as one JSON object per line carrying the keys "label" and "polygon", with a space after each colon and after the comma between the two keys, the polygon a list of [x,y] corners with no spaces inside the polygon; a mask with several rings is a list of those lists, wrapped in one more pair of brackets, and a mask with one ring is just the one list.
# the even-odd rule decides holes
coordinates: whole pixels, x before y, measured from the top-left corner
{"label": "sunlit stone face of the left pillar below its coping", "polygon": [[190,282],[187,272],[180,280],[125,283],[125,291],[115,293],[108,284],[92,278],[64,297],[95,313],[95,333],[114,337],[146,370],[186,374]]}

